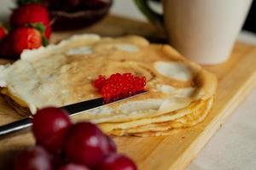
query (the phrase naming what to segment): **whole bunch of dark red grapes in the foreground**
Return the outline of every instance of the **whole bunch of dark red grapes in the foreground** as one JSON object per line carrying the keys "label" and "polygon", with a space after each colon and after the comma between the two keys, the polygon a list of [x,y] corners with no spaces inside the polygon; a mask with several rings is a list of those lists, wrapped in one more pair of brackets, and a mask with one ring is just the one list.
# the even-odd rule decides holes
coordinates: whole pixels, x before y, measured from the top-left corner
{"label": "whole bunch of dark red grapes in the foreground", "polygon": [[37,146],[16,157],[15,170],[137,170],[95,124],[73,124],[61,109],[39,110],[32,132]]}

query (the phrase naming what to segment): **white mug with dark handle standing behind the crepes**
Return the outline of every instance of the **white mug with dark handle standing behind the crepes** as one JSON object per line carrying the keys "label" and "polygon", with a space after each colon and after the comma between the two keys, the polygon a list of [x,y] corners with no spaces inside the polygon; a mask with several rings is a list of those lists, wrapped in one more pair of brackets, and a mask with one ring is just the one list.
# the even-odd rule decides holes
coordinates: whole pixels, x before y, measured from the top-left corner
{"label": "white mug with dark handle standing behind the crepes", "polygon": [[164,16],[148,1],[135,0],[148,19],[164,26],[172,46],[195,62],[219,64],[229,59],[252,0],[164,0]]}

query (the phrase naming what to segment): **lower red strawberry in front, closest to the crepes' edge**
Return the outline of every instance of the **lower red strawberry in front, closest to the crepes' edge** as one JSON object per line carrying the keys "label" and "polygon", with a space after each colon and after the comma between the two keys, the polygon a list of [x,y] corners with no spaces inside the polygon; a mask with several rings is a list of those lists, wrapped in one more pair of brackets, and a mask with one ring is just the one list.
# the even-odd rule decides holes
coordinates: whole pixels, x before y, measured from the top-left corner
{"label": "lower red strawberry in front, closest to the crepes' edge", "polygon": [[32,27],[20,27],[11,36],[15,54],[21,54],[24,49],[39,48],[43,44],[40,31]]}

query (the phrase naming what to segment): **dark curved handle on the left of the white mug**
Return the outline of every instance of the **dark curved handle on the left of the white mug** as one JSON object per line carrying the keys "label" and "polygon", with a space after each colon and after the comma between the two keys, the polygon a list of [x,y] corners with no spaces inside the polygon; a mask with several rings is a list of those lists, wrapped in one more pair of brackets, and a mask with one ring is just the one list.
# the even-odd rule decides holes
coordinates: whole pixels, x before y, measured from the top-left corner
{"label": "dark curved handle on the left of the white mug", "polygon": [[148,5],[149,0],[134,0],[137,4],[137,8],[139,8],[143,14],[150,20],[154,25],[163,28],[164,26],[164,16],[162,14],[157,14],[150,8]]}

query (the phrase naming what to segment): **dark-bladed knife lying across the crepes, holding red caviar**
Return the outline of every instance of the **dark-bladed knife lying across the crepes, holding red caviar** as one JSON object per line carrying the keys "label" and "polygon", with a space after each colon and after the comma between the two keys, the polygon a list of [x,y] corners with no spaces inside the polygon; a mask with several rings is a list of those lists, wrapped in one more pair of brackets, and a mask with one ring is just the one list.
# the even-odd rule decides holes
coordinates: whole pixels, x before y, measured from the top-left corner
{"label": "dark-bladed knife lying across the crepes, holding red caviar", "polygon": [[[127,97],[124,99],[118,99],[118,100],[109,102],[107,104],[104,103],[103,98],[90,99],[90,100],[82,101],[82,102],[79,102],[76,104],[62,106],[61,109],[67,111],[68,116],[75,116],[75,115],[79,115],[80,113],[82,113],[84,111],[90,111],[92,109],[96,109],[103,105],[111,105],[113,103],[117,103],[117,102],[120,102],[125,99],[130,99],[134,96],[145,94],[145,93],[146,93],[146,91],[142,91],[142,92],[139,92],[138,94],[132,95],[130,97]],[[3,135],[7,135],[9,133],[18,132],[20,130],[23,130],[23,129],[25,129],[27,127],[31,127],[31,126],[32,126],[32,116],[21,119],[20,121],[11,122],[9,124],[0,126],[0,137]]]}

